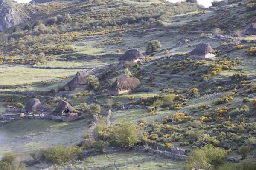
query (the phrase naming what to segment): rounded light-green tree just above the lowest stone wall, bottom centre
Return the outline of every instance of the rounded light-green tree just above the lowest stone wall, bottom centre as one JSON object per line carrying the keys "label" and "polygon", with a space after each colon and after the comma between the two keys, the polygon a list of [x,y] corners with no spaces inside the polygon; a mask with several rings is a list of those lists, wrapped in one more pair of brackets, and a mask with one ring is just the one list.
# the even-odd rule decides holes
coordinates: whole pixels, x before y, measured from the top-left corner
{"label": "rounded light-green tree just above the lowest stone wall, bottom centre", "polygon": [[132,146],[138,140],[138,130],[131,122],[121,122],[114,128],[116,143],[122,146]]}

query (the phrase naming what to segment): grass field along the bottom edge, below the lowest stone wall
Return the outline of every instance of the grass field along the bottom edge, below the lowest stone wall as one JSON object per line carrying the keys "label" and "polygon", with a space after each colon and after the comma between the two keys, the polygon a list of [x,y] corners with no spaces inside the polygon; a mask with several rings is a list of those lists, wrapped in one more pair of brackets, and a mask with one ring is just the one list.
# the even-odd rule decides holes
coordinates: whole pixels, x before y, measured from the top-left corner
{"label": "grass field along the bottom edge, below the lowest stone wall", "polygon": [[[182,166],[183,161],[157,157],[141,151],[125,151],[92,156],[83,161],[59,167],[59,170],[114,170],[116,168],[119,170],[180,170]],[[38,164],[29,167],[28,170],[47,167],[49,167],[47,164]]]}

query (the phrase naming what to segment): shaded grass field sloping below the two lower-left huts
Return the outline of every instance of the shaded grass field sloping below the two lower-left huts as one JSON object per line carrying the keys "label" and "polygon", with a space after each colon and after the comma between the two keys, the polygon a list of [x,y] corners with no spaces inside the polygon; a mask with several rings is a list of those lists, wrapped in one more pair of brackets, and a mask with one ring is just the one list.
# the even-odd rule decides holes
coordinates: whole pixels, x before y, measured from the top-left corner
{"label": "shaded grass field sloping below the two lower-left huts", "polygon": [[22,119],[0,127],[0,157],[5,152],[32,153],[41,147],[73,146],[87,129],[85,119],[75,122]]}

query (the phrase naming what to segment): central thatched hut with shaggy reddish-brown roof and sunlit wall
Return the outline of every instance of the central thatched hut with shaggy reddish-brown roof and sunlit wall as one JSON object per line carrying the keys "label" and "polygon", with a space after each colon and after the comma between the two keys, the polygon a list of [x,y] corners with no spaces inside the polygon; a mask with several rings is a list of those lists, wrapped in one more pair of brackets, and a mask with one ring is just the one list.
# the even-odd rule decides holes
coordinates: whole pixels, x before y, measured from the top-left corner
{"label": "central thatched hut with shaggy reddish-brown roof and sunlit wall", "polygon": [[113,85],[108,88],[108,94],[118,96],[140,87],[140,80],[134,77],[123,77],[117,79]]}

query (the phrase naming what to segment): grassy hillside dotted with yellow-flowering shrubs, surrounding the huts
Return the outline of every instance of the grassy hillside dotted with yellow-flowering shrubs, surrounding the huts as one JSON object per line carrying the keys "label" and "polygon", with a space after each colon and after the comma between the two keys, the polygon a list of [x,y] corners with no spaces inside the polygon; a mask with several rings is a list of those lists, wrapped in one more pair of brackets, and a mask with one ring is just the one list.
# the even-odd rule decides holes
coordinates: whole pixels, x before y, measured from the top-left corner
{"label": "grassy hillside dotted with yellow-flowering shrubs, surrounding the huts", "polygon": [[[228,158],[241,158],[241,148],[249,148],[247,157],[255,155],[256,38],[243,34],[256,22],[255,4],[255,0],[229,0],[202,8],[165,0],[77,0],[17,5],[29,20],[1,33],[0,114],[10,114],[5,113],[6,105],[25,105],[31,98],[52,109],[60,100],[68,100],[76,109],[95,102],[101,111],[92,136],[82,135],[92,126],[90,109],[75,122],[22,119],[6,123],[0,126],[4,136],[0,157],[13,151],[32,159],[29,153],[57,145],[79,144],[83,151],[92,151],[91,141],[121,146],[115,130],[127,121],[133,125],[130,129],[139,132],[132,145],[179,147],[190,156],[213,145]],[[146,53],[151,40],[158,40],[161,47]],[[184,57],[198,43],[209,43],[217,55],[207,60]],[[119,65],[119,56],[130,48],[139,49],[147,62]],[[90,67],[99,78],[97,88],[63,91],[77,71]],[[142,87],[109,96],[105,90],[128,73],[140,79]],[[56,96],[59,91],[62,98]],[[109,101],[113,107],[108,125]],[[212,169],[224,164],[207,163]],[[52,164],[29,164],[28,169]],[[122,151],[58,168],[180,169],[184,164],[187,161]]]}

